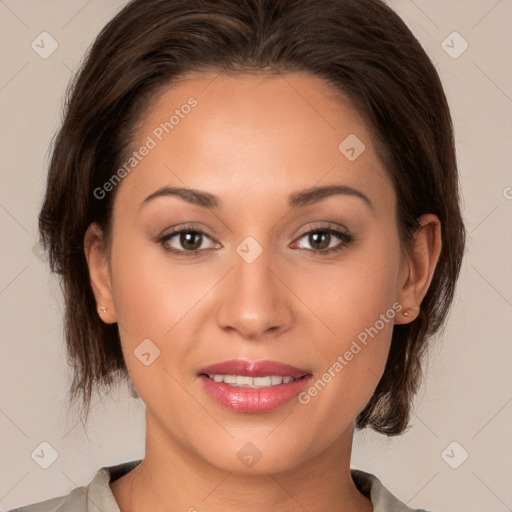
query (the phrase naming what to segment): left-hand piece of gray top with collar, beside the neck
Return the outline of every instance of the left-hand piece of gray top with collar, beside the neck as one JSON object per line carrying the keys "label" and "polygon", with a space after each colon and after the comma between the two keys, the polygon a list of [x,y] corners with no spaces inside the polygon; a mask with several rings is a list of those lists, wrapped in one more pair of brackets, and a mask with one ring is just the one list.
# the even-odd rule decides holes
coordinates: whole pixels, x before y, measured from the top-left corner
{"label": "left-hand piece of gray top with collar, beside the neck", "polygon": [[65,496],[32,503],[7,512],[120,512],[109,483],[130,472],[141,460],[103,467],[97,471],[88,485],[76,487]]}

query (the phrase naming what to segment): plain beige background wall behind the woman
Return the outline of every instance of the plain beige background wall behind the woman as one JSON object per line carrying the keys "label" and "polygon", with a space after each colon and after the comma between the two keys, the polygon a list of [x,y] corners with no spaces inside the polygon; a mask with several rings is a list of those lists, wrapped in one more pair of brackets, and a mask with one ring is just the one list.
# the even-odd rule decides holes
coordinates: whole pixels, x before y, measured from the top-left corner
{"label": "plain beige background wall behind the woman", "polygon": [[[353,466],[375,473],[411,507],[512,510],[512,1],[389,4],[424,45],[444,83],[470,236],[413,428],[395,439],[358,435]],[[77,417],[66,421],[61,297],[33,250],[65,87],[122,5],[0,0],[0,510],[67,494],[100,467],[143,456],[144,406],[124,387],[111,398],[93,399],[87,434]],[[47,59],[31,48],[43,31],[59,45]],[[458,58],[442,47],[453,31],[469,44]],[[455,39],[452,52],[461,43]],[[58,452],[48,469],[31,457],[44,441]],[[454,441],[453,452],[453,446],[446,452]],[[453,469],[445,460],[455,465],[462,450],[469,457]]]}

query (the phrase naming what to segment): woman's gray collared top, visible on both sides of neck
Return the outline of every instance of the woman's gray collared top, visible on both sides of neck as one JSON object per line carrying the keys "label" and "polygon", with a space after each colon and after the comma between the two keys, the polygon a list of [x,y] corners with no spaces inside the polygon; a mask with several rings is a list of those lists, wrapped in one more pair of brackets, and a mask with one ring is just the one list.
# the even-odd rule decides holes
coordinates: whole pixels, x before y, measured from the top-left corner
{"label": "woman's gray collared top, visible on both sides of neck", "polygon": [[[89,485],[76,487],[66,496],[8,512],[121,512],[108,484],[129,473],[141,461],[142,459],[139,459],[117,466],[103,467],[98,470]],[[427,512],[424,509],[406,506],[393,496],[375,475],[358,469],[351,469],[350,472],[357,488],[371,499],[373,512]]]}

